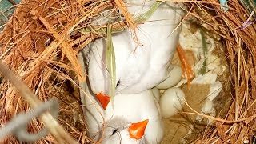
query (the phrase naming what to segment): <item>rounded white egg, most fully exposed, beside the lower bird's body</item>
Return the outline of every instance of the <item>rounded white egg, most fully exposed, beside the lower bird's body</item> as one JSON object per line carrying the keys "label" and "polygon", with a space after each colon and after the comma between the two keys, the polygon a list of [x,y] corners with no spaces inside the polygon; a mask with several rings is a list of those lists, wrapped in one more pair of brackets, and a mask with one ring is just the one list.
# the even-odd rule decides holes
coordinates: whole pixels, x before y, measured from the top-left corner
{"label": "rounded white egg, most fully exposed, beside the lower bird's body", "polygon": [[182,110],[185,104],[185,94],[178,87],[166,90],[160,98],[160,110],[163,118],[169,118]]}

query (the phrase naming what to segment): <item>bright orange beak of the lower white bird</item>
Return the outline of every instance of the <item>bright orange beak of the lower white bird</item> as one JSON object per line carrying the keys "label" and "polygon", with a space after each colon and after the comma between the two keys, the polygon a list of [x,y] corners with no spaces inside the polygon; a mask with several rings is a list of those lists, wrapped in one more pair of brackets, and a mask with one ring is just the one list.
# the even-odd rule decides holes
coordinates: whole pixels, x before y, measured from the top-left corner
{"label": "bright orange beak of the lower white bird", "polygon": [[131,126],[129,126],[130,138],[134,138],[137,140],[141,139],[144,135],[147,122],[149,122],[148,119],[146,119],[145,121],[142,121],[142,122],[131,124]]}

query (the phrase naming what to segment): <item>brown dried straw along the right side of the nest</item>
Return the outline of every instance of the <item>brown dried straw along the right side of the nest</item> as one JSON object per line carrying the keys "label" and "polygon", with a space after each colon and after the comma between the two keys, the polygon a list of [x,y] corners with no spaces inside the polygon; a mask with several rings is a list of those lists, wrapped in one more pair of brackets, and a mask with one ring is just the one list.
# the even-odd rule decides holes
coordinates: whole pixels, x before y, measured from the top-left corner
{"label": "brown dried straw along the right side of the nest", "polygon": [[[214,119],[215,126],[206,127],[194,143],[243,143],[246,140],[252,143],[256,130],[256,26],[238,29],[250,17],[250,11],[237,0],[228,1],[229,10],[226,12],[221,9],[218,1],[190,4],[190,14],[222,37],[222,42],[226,45],[226,59],[230,63],[230,82],[233,86],[230,90],[233,102],[226,117],[222,119],[204,115]],[[190,114],[201,115],[196,111]]]}

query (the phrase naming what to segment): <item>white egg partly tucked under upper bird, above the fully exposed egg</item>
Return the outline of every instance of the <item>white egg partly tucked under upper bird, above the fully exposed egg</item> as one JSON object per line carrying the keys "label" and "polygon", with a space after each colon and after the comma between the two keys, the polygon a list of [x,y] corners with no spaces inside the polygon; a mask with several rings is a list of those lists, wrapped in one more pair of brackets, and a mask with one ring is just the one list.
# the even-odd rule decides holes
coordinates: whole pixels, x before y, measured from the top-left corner
{"label": "white egg partly tucked under upper bird, above the fully exposed egg", "polygon": [[174,68],[168,74],[166,80],[161,82],[158,89],[168,89],[175,86],[182,79],[182,68],[180,66],[174,66]]}

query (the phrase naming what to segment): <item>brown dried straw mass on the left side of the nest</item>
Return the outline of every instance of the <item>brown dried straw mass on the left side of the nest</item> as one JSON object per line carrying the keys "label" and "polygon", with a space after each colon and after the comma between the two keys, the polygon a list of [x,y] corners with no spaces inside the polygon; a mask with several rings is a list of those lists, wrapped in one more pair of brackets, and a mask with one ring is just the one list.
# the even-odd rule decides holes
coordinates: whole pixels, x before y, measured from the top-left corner
{"label": "brown dried straw mass on the left side of the nest", "polygon": [[[90,139],[86,137],[85,122],[79,118],[82,110],[76,94],[77,81],[74,79],[84,81],[85,78],[76,55],[78,50],[101,35],[84,34],[80,37],[78,29],[85,26],[90,28],[91,18],[106,8],[114,10],[113,3],[24,0],[0,35],[2,62],[10,66],[41,101],[53,96],[61,100],[62,110],[58,122],[79,143],[88,143]],[[2,79],[1,94],[1,126],[15,114],[30,109],[31,103],[21,98],[6,79]],[[29,129],[33,132],[40,130],[40,127],[42,123],[34,121]],[[65,133],[62,132],[63,134]],[[36,143],[74,143],[67,139],[68,136],[65,137],[61,139],[52,133],[45,140]],[[18,143],[13,137],[3,142]]]}

